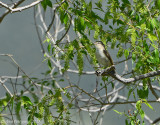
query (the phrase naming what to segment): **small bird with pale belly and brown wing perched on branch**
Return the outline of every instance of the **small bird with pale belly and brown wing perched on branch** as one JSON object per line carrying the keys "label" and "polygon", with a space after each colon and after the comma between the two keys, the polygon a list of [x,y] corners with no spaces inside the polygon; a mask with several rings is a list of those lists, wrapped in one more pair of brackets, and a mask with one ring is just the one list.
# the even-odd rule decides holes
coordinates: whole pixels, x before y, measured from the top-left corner
{"label": "small bird with pale belly and brown wing perched on branch", "polygon": [[[96,41],[94,44],[96,47],[96,58],[98,63],[104,68],[112,66],[113,60],[108,51],[105,49],[105,45],[102,43],[102,41]],[[113,71],[115,73],[115,69]]]}

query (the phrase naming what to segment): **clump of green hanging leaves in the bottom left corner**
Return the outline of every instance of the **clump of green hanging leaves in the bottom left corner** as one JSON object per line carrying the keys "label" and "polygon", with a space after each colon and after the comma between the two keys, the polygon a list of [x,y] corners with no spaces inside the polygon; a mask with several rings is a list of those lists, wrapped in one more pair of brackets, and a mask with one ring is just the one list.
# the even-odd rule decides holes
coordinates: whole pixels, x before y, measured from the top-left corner
{"label": "clump of green hanging leaves in the bottom left corner", "polygon": [[[46,125],[70,124],[70,111],[68,109],[70,109],[72,105],[69,103],[66,105],[63,102],[63,93],[68,100],[71,99],[70,94],[67,91],[62,91],[58,88],[55,88],[54,90],[55,91],[49,90],[41,100],[36,99],[39,98],[37,95],[35,95],[37,97],[33,98],[33,100],[23,94],[12,98],[7,97],[0,100],[1,107],[7,105],[11,107],[14,106],[12,110],[15,109],[19,123],[21,123],[20,114],[22,110],[25,110],[28,114],[28,125],[38,125],[42,120],[44,120]],[[11,104],[7,104],[7,102],[10,102]],[[5,120],[1,117],[1,124],[3,123],[5,123]]]}

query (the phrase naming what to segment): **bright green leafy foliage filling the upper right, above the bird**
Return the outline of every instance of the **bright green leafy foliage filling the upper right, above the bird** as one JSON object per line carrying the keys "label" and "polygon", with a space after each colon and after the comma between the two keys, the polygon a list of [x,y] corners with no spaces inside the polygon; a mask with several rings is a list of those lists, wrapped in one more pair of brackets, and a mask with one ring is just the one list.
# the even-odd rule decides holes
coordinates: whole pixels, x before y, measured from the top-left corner
{"label": "bright green leafy foliage filling the upper right, above the bird", "polygon": [[[125,57],[126,60],[132,58],[132,72],[134,72],[132,76],[158,70],[160,67],[159,4],[155,1],[108,0],[107,6],[104,7],[104,3],[101,0],[96,2],[76,0],[65,1],[59,7],[61,23],[68,24],[69,20],[74,19],[74,31],[81,36],[65,45],[66,52],[62,58],[65,61],[63,72],[70,68],[70,61],[77,57],[81,74],[83,56],[87,54],[93,64],[96,64],[90,40],[92,36],[95,41],[100,39],[104,44],[111,44],[112,49],[117,49],[117,58]],[[67,15],[71,15],[72,18]],[[67,25],[65,27],[68,28]],[[148,98],[150,80],[150,78],[144,79],[142,88],[139,89],[138,86],[134,88],[137,89],[137,96],[140,99]],[[134,91],[129,91],[128,99],[132,92]],[[137,121],[138,115],[142,120],[144,118],[144,111],[138,108],[140,107],[138,102],[134,117],[129,117],[130,124],[140,124],[140,121]]]}

